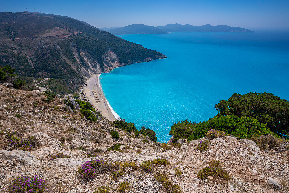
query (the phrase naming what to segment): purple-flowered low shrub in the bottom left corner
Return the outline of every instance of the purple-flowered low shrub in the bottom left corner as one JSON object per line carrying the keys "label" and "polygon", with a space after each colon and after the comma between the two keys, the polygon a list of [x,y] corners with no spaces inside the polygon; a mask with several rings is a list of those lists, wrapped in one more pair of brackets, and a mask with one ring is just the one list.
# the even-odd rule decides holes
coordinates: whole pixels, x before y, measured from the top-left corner
{"label": "purple-flowered low shrub in the bottom left corner", "polygon": [[12,183],[8,186],[8,191],[12,193],[43,193],[47,188],[47,181],[37,176],[12,177]]}

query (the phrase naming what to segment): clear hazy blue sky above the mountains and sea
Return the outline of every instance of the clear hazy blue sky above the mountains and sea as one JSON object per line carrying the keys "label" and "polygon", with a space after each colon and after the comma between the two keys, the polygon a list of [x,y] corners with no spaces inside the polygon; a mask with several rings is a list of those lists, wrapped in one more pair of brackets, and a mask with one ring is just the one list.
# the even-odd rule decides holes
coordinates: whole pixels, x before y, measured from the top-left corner
{"label": "clear hazy blue sky above the mountains and sea", "polygon": [[0,12],[34,11],[70,16],[95,27],[123,27],[134,23],[166,25],[230,25],[250,30],[288,30],[289,0],[11,0]]}

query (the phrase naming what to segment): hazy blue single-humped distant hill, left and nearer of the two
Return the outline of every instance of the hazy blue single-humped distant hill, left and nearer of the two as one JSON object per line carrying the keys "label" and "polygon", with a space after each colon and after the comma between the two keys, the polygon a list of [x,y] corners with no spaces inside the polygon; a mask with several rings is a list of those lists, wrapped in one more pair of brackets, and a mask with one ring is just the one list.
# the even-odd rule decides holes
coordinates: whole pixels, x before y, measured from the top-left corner
{"label": "hazy blue single-humped distant hill, left and nearer of the two", "polygon": [[143,24],[133,24],[127,25],[122,28],[111,29],[108,32],[121,35],[121,34],[166,34],[159,28],[152,26],[152,25],[143,25]]}

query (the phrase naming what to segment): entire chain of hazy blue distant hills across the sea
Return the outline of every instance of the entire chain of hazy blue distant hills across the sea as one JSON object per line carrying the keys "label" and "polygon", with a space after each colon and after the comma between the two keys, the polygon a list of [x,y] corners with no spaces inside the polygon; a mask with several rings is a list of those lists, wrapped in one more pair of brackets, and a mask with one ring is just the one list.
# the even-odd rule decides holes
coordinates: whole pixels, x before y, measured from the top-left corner
{"label": "entire chain of hazy blue distant hills across the sea", "polygon": [[178,23],[164,26],[152,26],[143,24],[127,25],[125,27],[103,27],[103,31],[110,32],[114,35],[123,34],[166,34],[168,32],[253,32],[242,27],[231,27],[229,25],[181,25]]}

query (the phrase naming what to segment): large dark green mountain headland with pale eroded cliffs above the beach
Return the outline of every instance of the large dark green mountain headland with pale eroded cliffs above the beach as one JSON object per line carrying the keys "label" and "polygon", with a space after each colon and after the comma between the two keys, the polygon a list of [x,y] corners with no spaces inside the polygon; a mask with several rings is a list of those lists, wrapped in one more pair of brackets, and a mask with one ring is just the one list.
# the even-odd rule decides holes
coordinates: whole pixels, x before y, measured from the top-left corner
{"label": "large dark green mountain headland with pale eroded cliffs above the beach", "polygon": [[59,79],[73,92],[92,74],[166,57],[52,14],[0,13],[0,40],[0,65],[10,65],[22,76]]}

